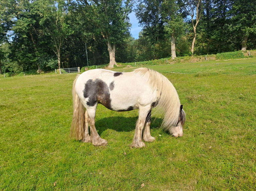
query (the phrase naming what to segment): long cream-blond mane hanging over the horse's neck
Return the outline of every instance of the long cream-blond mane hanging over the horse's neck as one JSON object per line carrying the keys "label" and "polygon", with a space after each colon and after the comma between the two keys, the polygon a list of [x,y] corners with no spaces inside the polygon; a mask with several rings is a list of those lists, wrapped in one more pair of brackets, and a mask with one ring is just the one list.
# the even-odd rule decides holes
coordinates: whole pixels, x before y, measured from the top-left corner
{"label": "long cream-blond mane hanging over the horse's neck", "polygon": [[162,126],[166,130],[176,126],[179,120],[180,101],[172,83],[162,74],[148,68],[138,68],[133,72],[141,76],[149,75],[149,84],[152,90],[157,90],[159,97],[157,107],[165,111]]}

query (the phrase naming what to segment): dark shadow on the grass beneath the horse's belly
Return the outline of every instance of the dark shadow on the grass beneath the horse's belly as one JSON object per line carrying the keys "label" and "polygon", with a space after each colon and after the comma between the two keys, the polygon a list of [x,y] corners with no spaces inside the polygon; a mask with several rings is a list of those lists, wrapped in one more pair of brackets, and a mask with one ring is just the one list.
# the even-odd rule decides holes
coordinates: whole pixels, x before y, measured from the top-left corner
{"label": "dark shadow on the grass beneath the horse's belly", "polygon": [[[96,129],[101,133],[107,129],[113,129],[118,132],[130,132],[135,130],[136,121],[138,117],[123,117],[114,116],[99,119],[95,122]],[[162,119],[152,117],[150,128],[157,128],[161,126]]]}

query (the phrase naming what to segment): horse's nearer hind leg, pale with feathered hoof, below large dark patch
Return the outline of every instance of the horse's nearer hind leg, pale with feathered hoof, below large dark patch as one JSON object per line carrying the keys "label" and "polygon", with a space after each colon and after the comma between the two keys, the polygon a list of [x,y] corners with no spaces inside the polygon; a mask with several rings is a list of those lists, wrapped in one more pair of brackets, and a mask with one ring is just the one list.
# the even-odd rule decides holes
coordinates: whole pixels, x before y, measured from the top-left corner
{"label": "horse's nearer hind leg, pale with feathered hoof, below large dark patch", "polygon": [[96,108],[97,108],[97,104],[94,107],[87,109],[88,123],[90,125],[90,131],[91,131],[91,141],[95,146],[105,146],[107,145],[108,141],[106,141],[105,139],[102,139],[95,128]]}

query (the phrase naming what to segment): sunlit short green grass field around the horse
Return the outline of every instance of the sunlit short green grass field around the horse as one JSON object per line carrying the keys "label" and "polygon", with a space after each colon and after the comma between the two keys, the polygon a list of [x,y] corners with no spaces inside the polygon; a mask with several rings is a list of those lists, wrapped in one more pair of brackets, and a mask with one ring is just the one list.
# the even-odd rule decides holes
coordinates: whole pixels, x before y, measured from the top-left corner
{"label": "sunlit short green grass field around the horse", "polygon": [[[130,148],[137,110],[98,106],[95,147],[70,137],[76,74],[0,77],[0,190],[256,190],[256,59],[152,66],[175,86],[183,137]],[[131,68],[118,69],[129,71]]]}

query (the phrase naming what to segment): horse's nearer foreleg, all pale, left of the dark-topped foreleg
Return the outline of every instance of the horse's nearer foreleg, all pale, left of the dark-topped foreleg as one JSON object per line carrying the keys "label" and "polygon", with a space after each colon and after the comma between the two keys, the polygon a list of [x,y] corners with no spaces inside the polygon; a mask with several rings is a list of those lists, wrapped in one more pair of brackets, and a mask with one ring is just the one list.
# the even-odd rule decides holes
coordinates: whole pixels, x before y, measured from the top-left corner
{"label": "horse's nearer foreleg, all pale, left of the dark-topped foreleg", "polygon": [[139,118],[136,123],[135,134],[133,137],[132,144],[130,145],[131,147],[139,148],[139,147],[146,146],[145,143],[142,141],[142,130],[145,125],[146,116],[147,116],[149,110],[150,110],[150,108],[149,109],[147,109],[147,108],[139,109]]}

